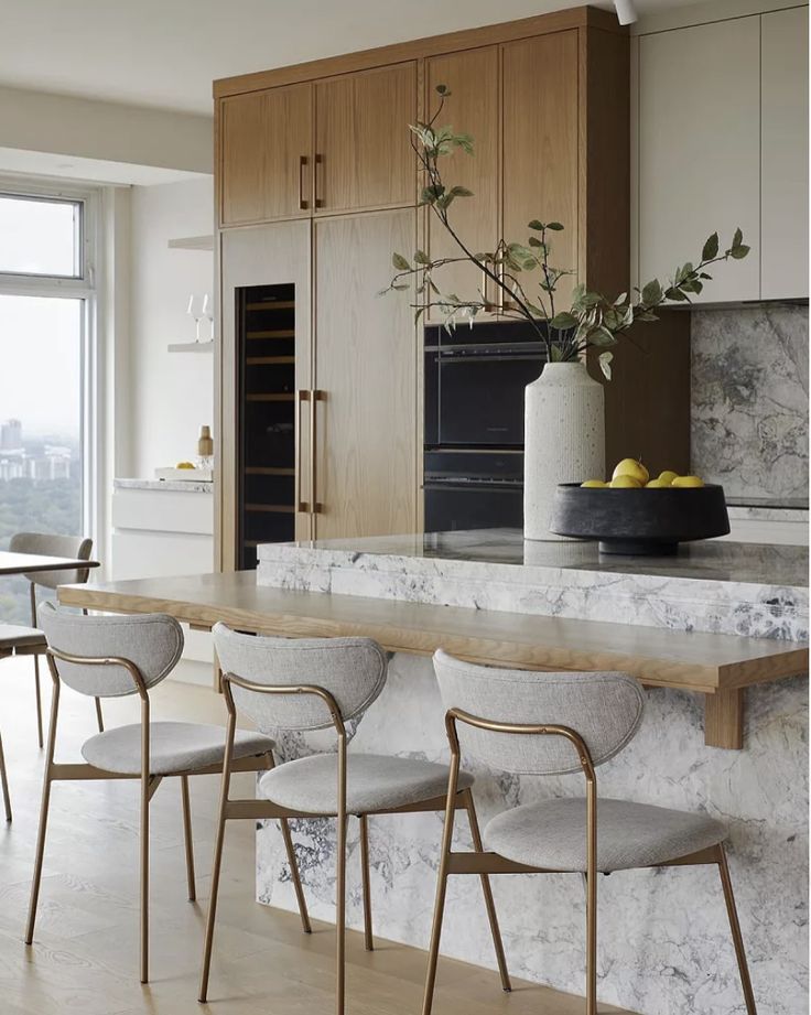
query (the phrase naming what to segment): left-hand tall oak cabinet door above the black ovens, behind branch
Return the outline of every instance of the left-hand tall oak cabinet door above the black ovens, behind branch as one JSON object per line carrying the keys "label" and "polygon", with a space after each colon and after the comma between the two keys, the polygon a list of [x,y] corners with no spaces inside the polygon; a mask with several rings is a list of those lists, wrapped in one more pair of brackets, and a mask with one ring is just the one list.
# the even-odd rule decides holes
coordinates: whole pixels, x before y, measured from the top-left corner
{"label": "left-hand tall oak cabinet door above the black ovens, behind branch", "polygon": [[[440,163],[447,187],[464,186],[474,195],[454,201],[448,208],[450,224],[471,253],[493,251],[499,233],[498,47],[435,56],[428,61],[428,80],[426,119],[436,109],[436,86],[446,85],[451,97],[436,126],[451,123],[457,132],[473,136],[473,155],[458,150]],[[428,237],[432,260],[464,256],[433,212],[429,212]],[[433,278],[445,295],[455,294],[459,300],[484,295],[483,279],[472,264],[446,264]],[[486,299],[495,303],[495,287],[488,283],[486,288]],[[433,311],[429,318],[441,321],[442,315]]]}

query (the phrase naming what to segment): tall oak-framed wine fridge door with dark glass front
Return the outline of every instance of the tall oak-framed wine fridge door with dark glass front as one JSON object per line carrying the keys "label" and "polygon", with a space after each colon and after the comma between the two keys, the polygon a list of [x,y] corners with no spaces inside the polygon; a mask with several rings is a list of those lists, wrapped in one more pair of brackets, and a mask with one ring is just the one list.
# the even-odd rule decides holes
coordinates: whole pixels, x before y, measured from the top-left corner
{"label": "tall oak-framed wine fridge door with dark glass front", "polygon": [[[216,553],[226,571],[246,565],[246,543],[270,541],[264,536],[259,539],[261,533],[251,531],[251,526],[261,528],[268,520],[284,520],[291,526],[289,539],[309,539],[311,535],[310,511],[295,511],[296,493],[307,504],[311,500],[310,414],[305,411],[295,419],[294,398],[296,390],[312,388],[310,233],[310,222],[284,222],[221,234]],[[288,324],[292,317],[292,328],[269,325],[249,332],[246,323],[251,314],[261,318],[263,313],[251,304],[255,296],[259,302],[255,291],[271,287],[286,290],[283,302],[293,306],[284,307],[284,313]],[[292,367],[292,377],[272,391],[255,386],[248,390],[248,360],[260,368]],[[245,440],[249,431],[258,435],[252,447]],[[271,483],[281,493],[274,490],[268,497],[251,493],[251,487]],[[251,512],[248,506],[252,506]],[[264,515],[277,517],[268,519]]]}

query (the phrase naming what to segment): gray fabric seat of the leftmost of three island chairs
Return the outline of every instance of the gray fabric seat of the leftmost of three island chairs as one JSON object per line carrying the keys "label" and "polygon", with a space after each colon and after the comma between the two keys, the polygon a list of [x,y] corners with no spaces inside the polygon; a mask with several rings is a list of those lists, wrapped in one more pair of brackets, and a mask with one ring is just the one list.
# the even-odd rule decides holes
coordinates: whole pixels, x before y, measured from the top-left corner
{"label": "gray fabric seat of the leftmost of three island chairs", "polygon": [[[234,757],[252,757],[272,749],[273,741],[269,736],[237,730]],[[225,755],[225,728],[202,723],[152,723],[149,753],[150,773],[156,776],[219,765]],[[140,775],[140,723],[90,737],[82,747],[82,755],[88,764],[105,771]]]}

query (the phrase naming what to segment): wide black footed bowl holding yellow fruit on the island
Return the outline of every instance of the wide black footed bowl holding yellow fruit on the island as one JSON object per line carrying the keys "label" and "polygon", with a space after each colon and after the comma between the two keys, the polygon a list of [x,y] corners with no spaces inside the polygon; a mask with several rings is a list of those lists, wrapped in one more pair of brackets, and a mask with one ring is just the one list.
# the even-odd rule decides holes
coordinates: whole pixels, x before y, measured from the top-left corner
{"label": "wide black footed bowl holding yellow fruit on the island", "polygon": [[555,493],[550,530],[558,536],[598,539],[601,553],[660,557],[680,542],[726,536],[724,487],[624,489],[562,483]]}

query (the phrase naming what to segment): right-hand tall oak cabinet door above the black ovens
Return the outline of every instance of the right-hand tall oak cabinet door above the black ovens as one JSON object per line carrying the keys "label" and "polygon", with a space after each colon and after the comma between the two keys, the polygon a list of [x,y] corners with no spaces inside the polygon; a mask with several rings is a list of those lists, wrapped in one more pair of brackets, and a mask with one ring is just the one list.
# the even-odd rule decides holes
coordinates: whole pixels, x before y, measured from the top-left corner
{"label": "right-hand tall oak cabinet door above the black ovens", "polygon": [[[549,233],[550,264],[577,268],[577,32],[504,46],[504,237],[527,244],[531,219],[559,222]],[[533,302],[540,272],[519,274]],[[576,277],[562,278],[555,309],[571,302]]]}

